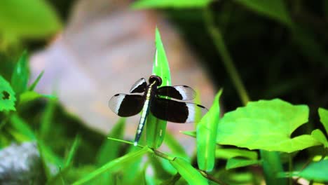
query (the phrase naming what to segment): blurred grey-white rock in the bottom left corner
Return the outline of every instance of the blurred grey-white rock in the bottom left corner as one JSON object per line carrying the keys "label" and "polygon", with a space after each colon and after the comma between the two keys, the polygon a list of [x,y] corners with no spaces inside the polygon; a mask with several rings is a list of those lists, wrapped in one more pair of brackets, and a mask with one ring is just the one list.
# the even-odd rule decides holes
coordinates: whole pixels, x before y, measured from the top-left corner
{"label": "blurred grey-white rock in the bottom left corner", "polygon": [[44,177],[35,142],[11,144],[0,151],[0,184],[44,184]]}

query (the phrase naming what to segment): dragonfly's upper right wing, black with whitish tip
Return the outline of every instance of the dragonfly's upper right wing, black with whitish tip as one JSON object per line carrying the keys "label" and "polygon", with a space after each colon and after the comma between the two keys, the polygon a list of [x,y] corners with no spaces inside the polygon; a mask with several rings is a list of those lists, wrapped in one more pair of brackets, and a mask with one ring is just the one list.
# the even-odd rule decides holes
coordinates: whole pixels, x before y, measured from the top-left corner
{"label": "dragonfly's upper right wing, black with whitish tip", "polygon": [[196,97],[195,90],[187,85],[163,86],[157,89],[157,94],[177,100],[193,100]]}

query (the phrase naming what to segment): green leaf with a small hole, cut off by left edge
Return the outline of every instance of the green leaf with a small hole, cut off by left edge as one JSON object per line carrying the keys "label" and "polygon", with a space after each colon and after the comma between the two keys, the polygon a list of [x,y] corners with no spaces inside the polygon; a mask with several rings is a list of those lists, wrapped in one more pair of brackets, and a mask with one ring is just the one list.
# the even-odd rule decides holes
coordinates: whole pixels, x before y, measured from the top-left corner
{"label": "green leaf with a small hole, cut off by left edge", "polygon": [[0,75],[0,111],[15,111],[15,101],[11,85]]}

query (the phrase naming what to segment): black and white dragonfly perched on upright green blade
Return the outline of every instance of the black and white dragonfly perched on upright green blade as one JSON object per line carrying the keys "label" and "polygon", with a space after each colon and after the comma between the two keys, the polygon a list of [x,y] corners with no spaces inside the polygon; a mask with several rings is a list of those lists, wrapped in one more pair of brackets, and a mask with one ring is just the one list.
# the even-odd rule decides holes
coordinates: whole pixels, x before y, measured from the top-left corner
{"label": "black and white dragonfly perched on upright green blade", "polygon": [[[149,84],[140,78],[132,85],[130,95],[116,94],[109,100],[109,108],[121,117],[135,116],[141,112],[139,125],[135,134],[134,145],[137,146],[142,135],[149,111],[156,118],[173,123],[198,123],[207,109],[200,104],[184,102],[193,100],[196,92],[187,85],[161,86],[162,79],[151,75]],[[172,99],[171,99],[172,98]]]}

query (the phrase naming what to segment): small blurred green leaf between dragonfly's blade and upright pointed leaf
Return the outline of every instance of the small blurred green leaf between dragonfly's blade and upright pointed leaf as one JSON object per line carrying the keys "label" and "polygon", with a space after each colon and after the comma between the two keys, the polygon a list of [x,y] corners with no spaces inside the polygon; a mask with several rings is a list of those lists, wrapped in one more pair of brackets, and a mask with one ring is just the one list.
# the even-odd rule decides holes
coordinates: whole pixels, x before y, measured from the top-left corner
{"label": "small blurred green leaf between dragonfly's blade and upright pointed leaf", "polygon": [[170,132],[166,133],[164,142],[166,145],[168,145],[169,149],[171,150],[171,153],[174,156],[179,156],[181,158],[189,160],[189,156],[184,150],[184,147],[181,144],[179,144],[177,139],[175,139],[175,137],[173,137],[173,135]]}

